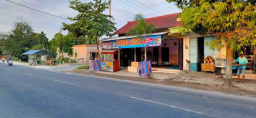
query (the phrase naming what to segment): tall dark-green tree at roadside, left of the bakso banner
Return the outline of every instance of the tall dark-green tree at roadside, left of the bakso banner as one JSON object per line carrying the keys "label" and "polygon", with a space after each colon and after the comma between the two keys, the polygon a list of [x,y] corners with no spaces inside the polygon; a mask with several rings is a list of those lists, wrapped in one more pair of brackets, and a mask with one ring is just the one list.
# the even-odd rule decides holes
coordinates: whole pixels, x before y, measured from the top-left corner
{"label": "tall dark-green tree at roadside, left of the bakso banner", "polygon": [[68,17],[73,23],[63,23],[63,29],[68,30],[76,37],[86,36],[90,39],[90,42],[96,42],[97,51],[99,52],[99,37],[103,35],[112,36],[112,32],[116,29],[112,16],[102,13],[108,8],[108,2],[93,0],[82,3],[79,0],[70,0],[69,7],[76,10],[78,14],[74,17]]}

